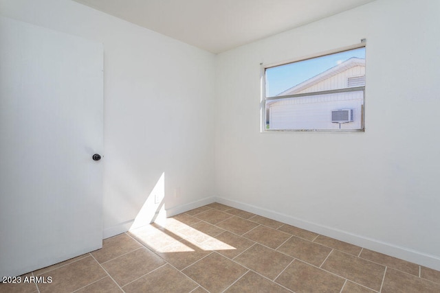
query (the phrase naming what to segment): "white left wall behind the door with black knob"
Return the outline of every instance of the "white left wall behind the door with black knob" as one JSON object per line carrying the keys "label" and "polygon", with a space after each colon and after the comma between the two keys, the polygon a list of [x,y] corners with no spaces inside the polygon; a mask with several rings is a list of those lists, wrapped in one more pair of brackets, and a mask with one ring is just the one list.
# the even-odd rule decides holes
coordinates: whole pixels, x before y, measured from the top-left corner
{"label": "white left wall behind the door with black knob", "polygon": [[0,0],[0,14],[103,43],[104,237],[142,207],[151,219],[153,188],[171,210],[213,196],[213,54],[74,1]]}

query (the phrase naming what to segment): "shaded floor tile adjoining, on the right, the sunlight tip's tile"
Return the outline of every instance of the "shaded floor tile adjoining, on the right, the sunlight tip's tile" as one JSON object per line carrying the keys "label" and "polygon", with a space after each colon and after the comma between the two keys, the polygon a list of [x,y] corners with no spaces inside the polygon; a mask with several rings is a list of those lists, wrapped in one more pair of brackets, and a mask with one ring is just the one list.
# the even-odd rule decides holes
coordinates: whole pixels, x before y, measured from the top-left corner
{"label": "shaded floor tile adjoining, on the right, the sunlight tip's tile", "polygon": [[292,257],[260,244],[255,244],[234,259],[246,268],[250,268],[271,280],[275,279],[292,260]]}

